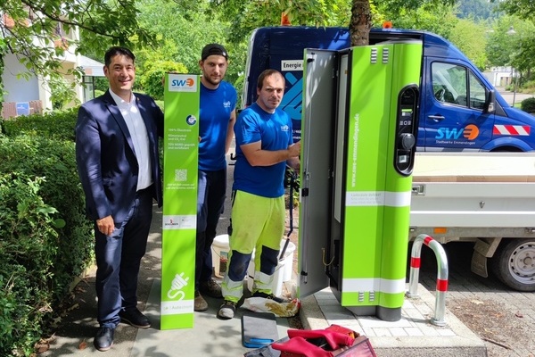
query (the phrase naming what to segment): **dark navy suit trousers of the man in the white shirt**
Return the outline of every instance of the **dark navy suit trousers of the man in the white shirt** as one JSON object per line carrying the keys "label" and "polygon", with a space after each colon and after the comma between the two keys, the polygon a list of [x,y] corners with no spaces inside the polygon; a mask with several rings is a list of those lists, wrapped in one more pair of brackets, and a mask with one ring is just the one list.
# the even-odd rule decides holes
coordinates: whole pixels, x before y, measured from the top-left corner
{"label": "dark navy suit trousers of the man in the white shirt", "polygon": [[[115,328],[119,311],[137,306],[137,276],[152,220],[152,188],[138,191],[127,219],[106,237],[95,226],[97,320]],[[117,224],[117,223],[116,223]]]}

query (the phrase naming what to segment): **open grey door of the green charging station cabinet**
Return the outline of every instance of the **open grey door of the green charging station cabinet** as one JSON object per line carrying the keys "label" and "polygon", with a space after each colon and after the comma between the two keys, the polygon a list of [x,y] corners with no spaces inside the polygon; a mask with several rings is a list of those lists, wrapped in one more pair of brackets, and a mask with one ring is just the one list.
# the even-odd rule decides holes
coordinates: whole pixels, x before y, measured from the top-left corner
{"label": "open grey door of the green charging station cabinet", "polygon": [[333,201],[333,136],[337,53],[305,50],[301,122],[300,229],[297,295],[329,286],[328,263]]}

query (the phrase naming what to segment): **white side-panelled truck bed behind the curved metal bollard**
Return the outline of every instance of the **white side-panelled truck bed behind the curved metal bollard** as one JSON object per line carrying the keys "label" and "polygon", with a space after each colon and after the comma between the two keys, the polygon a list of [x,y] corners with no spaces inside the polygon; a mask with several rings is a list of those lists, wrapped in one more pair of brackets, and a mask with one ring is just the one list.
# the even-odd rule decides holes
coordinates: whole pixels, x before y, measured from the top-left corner
{"label": "white side-panelled truck bed behind the curved metal bollard", "polygon": [[490,237],[504,237],[498,228],[526,234],[535,226],[535,154],[416,154],[410,225],[452,234],[452,228],[490,228]]}

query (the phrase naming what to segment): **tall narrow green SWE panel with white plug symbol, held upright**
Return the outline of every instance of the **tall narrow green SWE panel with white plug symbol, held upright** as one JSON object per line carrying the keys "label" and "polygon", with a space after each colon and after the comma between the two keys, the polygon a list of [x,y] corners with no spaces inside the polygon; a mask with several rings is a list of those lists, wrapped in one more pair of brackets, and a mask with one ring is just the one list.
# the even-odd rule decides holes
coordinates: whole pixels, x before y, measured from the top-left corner
{"label": "tall narrow green SWE panel with white plug symbol, held upright", "polygon": [[200,79],[167,74],[165,83],[161,329],[192,328]]}

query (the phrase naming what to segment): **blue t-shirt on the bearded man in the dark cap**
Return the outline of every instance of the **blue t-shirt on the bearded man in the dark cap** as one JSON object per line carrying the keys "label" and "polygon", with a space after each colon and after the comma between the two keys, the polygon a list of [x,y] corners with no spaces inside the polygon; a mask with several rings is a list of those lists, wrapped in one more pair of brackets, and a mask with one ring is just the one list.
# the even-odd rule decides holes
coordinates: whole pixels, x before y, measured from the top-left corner
{"label": "blue t-shirt on the bearded man in the dark cap", "polygon": [[221,81],[217,89],[201,83],[199,119],[199,169],[216,171],[226,168],[225,142],[230,114],[236,107],[236,90]]}

